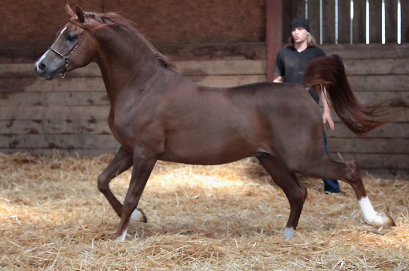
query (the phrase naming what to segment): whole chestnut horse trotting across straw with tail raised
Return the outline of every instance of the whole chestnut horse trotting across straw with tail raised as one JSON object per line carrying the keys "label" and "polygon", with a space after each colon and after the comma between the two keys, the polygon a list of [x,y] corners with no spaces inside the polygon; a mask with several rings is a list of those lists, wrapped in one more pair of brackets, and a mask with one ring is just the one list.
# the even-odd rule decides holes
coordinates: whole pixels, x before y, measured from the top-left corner
{"label": "whole chestnut horse trotting across straw with tail raised", "polygon": [[[332,108],[360,137],[390,121],[379,115],[380,108],[359,104],[338,56],[313,61],[304,86],[261,82],[208,88],[175,72],[129,20],[79,7],[74,12],[68,4],[66,9],[68,23],[34,68],[38,77],[50,80],[92,61],[99,65],[111,104],[108,123],[121,144],[98,177],[98,189],[120,217],[116,238],[125,239],[130,220],[147,221],[137,205],[157,160],[210,165],[257,157],[289,200],[286,239],[294,236],[307,196],[297,173],[349,183],[367,223],[394,224],[374,211],[358,164],[324,152],[319,108],[305,87],[317,92],[325,87]],[[122,205],[109,183],[131,166]]]}

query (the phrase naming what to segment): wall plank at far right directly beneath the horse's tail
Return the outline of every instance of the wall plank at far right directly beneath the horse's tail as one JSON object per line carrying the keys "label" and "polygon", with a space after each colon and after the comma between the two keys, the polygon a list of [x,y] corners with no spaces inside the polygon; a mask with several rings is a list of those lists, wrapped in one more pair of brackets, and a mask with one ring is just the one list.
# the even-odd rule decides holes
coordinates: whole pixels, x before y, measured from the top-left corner
{"label": "wall plank at far right directly beneath the horse's tail", "polygon": [[340,153],[409,154],[409,138],[377,139],[372,141],[354,138],[328,138],[328,150]]}

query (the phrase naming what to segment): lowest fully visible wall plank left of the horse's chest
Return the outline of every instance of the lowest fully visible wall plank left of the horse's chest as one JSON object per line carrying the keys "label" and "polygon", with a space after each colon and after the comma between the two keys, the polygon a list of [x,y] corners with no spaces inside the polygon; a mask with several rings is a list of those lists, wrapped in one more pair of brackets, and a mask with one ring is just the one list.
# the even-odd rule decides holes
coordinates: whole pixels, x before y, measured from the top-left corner
{"label": "lowest fully visible wall plank left of the horse's chest", "polygon": [[0,148],[112,149],[119,143],[112,135],[0,135]]}

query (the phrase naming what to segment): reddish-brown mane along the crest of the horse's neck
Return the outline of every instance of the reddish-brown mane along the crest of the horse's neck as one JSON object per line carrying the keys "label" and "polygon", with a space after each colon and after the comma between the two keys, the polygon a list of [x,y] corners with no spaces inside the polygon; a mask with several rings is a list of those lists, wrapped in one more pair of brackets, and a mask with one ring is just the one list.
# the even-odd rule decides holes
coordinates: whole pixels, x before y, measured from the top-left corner
{"label": "reddish-brown mane along the crest of the horse's neck", "polygon": [[100,25],[93,25],[87,22],[80,22],[76,16],[70,19],[70,22],[76,26],[85,29],[97,29],[104,27],[106,25],[120,25],[128,28],[132,31],[136,36],[138,36],[142,42],[149,48],[150,52],[159,60],[160,63],[167,69],[176,70],[176,65],[173,63],[169,58],[165,55],[161,54],[149,41],[149,39],[142,35],[135,27],[135,24],[130,20],[122,17],[117,13],[97,13],[97,12],[86,12],[85,18],[93,18],[99,21]]}

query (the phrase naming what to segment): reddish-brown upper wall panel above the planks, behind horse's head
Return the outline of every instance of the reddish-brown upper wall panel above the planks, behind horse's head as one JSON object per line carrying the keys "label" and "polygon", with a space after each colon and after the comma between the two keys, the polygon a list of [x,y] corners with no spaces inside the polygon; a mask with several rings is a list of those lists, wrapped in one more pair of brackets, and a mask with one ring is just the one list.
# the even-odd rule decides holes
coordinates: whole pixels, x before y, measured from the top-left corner
{"label": "reddish-brown upper wall panel above the planks, behind horse's head", "polygon": [[[0,4],[0,61],[36,59],[41,55],[68,20],[66,2],[19,0]],[[68,2],[73,9],[78,4],[85,11],[118,12],[133,21],[158,47],[235,43],[251,46],[265,40],[265,0]]]}

